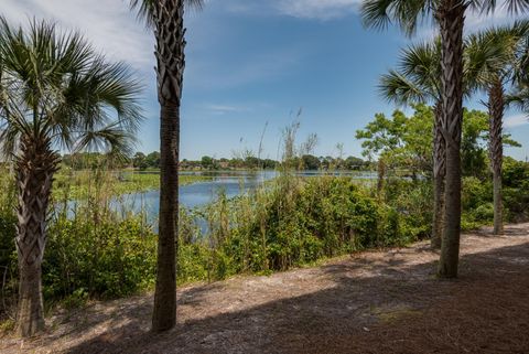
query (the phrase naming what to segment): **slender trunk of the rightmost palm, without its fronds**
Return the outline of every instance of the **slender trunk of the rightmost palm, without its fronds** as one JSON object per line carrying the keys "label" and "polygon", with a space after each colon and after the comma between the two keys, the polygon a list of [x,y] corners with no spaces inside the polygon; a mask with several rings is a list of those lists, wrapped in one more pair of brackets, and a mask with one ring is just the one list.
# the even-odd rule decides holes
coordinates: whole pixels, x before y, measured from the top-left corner
{"label": "slender trunk of the rightmost palm, without its fronds", "polygon": [[490,170],[494,183],[494,235],[504,233],[501,204],[501,165],[504,162],[504,146],[501,141],[503,119],[505,109],[505,93],[498,78],[488,92],[488,114],[490,130]]}

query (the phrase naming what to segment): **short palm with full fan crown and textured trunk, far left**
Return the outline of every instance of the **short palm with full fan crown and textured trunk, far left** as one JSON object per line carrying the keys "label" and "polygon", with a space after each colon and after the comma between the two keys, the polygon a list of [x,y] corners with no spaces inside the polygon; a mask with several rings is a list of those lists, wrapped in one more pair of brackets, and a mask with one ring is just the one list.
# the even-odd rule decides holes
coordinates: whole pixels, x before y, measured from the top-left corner
{"label": "short palm with full fan crown and textured trunk, far left", "polygon": [[[57,149],[129,153],[141,119],[139,86],[76,33],[33,20],[26,30],[0,18],[0,141],[18,186],[17,331],[44,328],[41,265]],[[114,110],[114,115],[111,114]]]}

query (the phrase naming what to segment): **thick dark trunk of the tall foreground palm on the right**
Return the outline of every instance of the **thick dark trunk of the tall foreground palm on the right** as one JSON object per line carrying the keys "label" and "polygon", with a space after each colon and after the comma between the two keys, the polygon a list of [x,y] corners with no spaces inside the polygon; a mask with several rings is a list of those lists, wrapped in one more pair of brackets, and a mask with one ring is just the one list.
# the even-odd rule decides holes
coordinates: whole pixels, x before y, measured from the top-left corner
{"label": "thick dark trunk of the tall foreground palm on the right", "polygon": [[457,277],[460,258],[464,13],[465,6],[460,0],[444,0],[436,13],[442,41],[442,129],[446,141],[445,225],[438,269],[442,278]]}

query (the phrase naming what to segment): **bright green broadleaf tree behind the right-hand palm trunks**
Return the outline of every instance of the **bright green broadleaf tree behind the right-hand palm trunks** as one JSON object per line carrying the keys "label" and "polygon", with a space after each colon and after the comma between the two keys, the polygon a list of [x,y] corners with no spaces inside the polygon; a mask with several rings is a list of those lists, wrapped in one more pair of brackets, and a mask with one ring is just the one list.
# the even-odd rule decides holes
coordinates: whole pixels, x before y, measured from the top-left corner
{"label": "bright green broadleaf tree behind the right-hand palm trunks", "polygon": [[[378,158],[392,169],[410,171],[412,175],[431,175],[433,110],[425,105],[413,105],[414,112],[406,117],[396,110],[391,118],[377,114],[356,138],[364,140],[363,154]],[[510,135],[504,135],[504,144],[517,147]],[[465,176],[488,176],[488,115],[479,110],[464,110],[461,141],[462,171]]]}

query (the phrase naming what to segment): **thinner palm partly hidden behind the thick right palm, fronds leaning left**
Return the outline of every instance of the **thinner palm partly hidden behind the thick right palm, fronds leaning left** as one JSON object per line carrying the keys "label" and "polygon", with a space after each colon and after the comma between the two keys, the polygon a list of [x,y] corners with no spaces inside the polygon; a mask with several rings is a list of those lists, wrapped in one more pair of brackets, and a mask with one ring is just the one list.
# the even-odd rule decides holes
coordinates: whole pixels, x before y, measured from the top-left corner
{"label": "thinner palm partly hidden behind the thick right palm, fronds leaning left", "polygon": [[442,124],[441,45],[439,41],[412,45],[402,52],[399,71],[380,78],[380,94],[398,105],[431,103],[433,131],[433,224],[431,247],[441,248],[444,218],[445,143]]}

